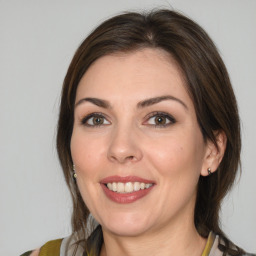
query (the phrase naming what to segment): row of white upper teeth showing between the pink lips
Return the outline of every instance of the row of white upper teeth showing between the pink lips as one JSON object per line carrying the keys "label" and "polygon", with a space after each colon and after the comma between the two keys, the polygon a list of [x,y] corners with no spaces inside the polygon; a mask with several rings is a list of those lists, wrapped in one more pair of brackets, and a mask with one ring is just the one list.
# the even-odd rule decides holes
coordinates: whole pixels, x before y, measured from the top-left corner
{"label": "row of white upper teeth showing between the pink lips", "polygon": [[151,187],[152,183],[143,183],[143,182],[112,182],[108,183],[107,187],[111,191],[118,193],[131,193],[133,191],[139,191],[140,189],[145,189]]}

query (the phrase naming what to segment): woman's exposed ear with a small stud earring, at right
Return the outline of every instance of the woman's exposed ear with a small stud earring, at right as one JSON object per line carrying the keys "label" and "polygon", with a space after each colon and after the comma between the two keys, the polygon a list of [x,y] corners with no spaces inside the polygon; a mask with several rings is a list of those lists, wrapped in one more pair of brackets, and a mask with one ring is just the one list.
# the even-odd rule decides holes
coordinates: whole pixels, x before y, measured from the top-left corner
{"label": "woman's exposed ear with a small stud earring, at right", "polygon": [[207,140],[206,152],[201,170],[202,176],[208,176],[210,174],[208,170],[210,170],[211,173],[217,170],[226,150],[227,136],[225,132],[216,131],[214,135],[217,145],[209,139]]}

